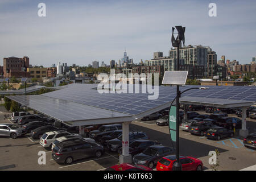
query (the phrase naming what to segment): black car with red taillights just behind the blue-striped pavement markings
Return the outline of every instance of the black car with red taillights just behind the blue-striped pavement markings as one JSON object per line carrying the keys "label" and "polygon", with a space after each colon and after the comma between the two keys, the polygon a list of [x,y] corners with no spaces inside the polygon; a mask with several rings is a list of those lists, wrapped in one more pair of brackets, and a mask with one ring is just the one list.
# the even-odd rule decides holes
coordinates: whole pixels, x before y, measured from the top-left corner
{"label": "black car with red taillights just behind the blue-striped pavement markings", "polygon": [[225,127],[213,126],[205,131],[205,137],[220,140],[221,138],[234,137],[234,131]]}

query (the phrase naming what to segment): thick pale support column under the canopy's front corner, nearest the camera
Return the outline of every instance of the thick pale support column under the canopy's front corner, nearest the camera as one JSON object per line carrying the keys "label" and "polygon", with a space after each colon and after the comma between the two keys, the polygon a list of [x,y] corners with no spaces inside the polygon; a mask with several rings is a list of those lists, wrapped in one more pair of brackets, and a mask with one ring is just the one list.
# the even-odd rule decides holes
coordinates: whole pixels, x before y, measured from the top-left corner
{"label": "thick pale support column under the canopy's front corner, nearest the camera", "polygon": [[131,163],[129,154],[129,125],[131,122],[123,122],[122,128],[122,155],[119,155],[119,163]]}

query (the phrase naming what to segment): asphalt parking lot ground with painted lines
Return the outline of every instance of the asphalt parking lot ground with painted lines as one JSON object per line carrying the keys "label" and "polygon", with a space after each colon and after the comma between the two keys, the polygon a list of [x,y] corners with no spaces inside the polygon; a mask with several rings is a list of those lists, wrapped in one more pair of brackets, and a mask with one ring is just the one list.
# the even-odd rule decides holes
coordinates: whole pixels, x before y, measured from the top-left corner
{"label": "asphalt parking lot ground with painted lines", "polygon": [[[197,111],[203,114],[204,111]],[[234,116],[229,114],[230,116]],[[5,119],[4,113],[0,113],[0,123],[10,122]],[[256,129],[256,120],[247,118],[247,126],[250,133]],[[172,146],[168,126],[158,126],[155,121],[133,121],[130,130],[144,131],[152,140],[158,140],[165,146]],[[218,149],[220,156],[219,170],[240,170],[256,164],[256,151],[243,146],[242,138],[235,135],[234,138],[224,138],[220,141],[210,140],[205,137],[191,135],[187,131],[180,130],[180,153],[182,155],[199,158],[204,163],[204,169],[210,169],[208,160],[209,151]],[[46,164],[39,164],[39,151],[46,152]],[[57,164],[52,159],[50,150],[40,146],[39,140],[30,137],[11,139],[0,138],[0,169],[3,170],[104,170],[119,162],[119,156],[115,152],[106,150],[100,158],[86,158],[78,160],[71,165]]]}

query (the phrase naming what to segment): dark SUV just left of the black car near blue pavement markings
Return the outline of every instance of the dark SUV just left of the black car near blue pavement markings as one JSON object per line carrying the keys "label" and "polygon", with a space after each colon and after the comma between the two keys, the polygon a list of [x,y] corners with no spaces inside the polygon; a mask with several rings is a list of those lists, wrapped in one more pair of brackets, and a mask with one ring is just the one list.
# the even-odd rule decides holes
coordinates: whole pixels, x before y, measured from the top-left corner
{"label": "dark SUV just left of the black car near blue pavement markings", "polygon": [[207,131],[210,127],[212,127],[211,122],[196,122],[192,123],[188,127],[188,132],[191,134],[204,136],[204,132]]}

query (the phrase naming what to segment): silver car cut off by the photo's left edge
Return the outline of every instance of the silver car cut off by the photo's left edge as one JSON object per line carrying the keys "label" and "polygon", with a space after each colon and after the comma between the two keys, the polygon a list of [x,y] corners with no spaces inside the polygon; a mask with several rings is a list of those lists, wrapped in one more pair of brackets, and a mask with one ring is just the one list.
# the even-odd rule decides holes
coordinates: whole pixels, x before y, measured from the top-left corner
{"label": "silver car cut off by the photo's left edge", "polygon": [[26,130],[23,129],[22,127],[18,127],[11,123],[0,124],[0,136],[6,136],[6,137],[11,137],[15,139],[25,134],[26,134]]}

